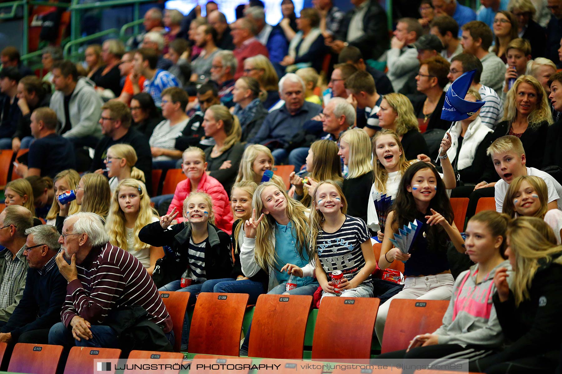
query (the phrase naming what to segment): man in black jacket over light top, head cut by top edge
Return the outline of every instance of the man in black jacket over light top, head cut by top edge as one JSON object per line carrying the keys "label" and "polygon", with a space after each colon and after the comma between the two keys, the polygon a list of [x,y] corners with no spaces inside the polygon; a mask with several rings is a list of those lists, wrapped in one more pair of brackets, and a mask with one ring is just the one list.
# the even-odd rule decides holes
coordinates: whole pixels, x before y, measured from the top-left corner
{"label": "man in black jacket over light top, head cut by top edge", "polygon": [[377,59],[389,44],[386,12],[375,0],[351,0],[351,3],[355,8],[346,13],[336,40],[328,45],[334,53],[355,45],[365,59]]}

